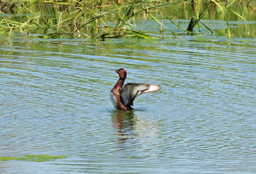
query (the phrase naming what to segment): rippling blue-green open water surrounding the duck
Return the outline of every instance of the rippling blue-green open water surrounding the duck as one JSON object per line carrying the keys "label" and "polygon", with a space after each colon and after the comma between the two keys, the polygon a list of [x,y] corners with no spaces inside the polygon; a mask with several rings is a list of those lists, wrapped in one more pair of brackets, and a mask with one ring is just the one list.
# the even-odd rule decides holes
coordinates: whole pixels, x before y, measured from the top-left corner
{"label": "rippling blue-green open water surrounding the duck", "polygon": [[[191,38],[0,45],[0,174],[255,173],[256,48]],[[134,111],[109,91],[160,85]]]}

